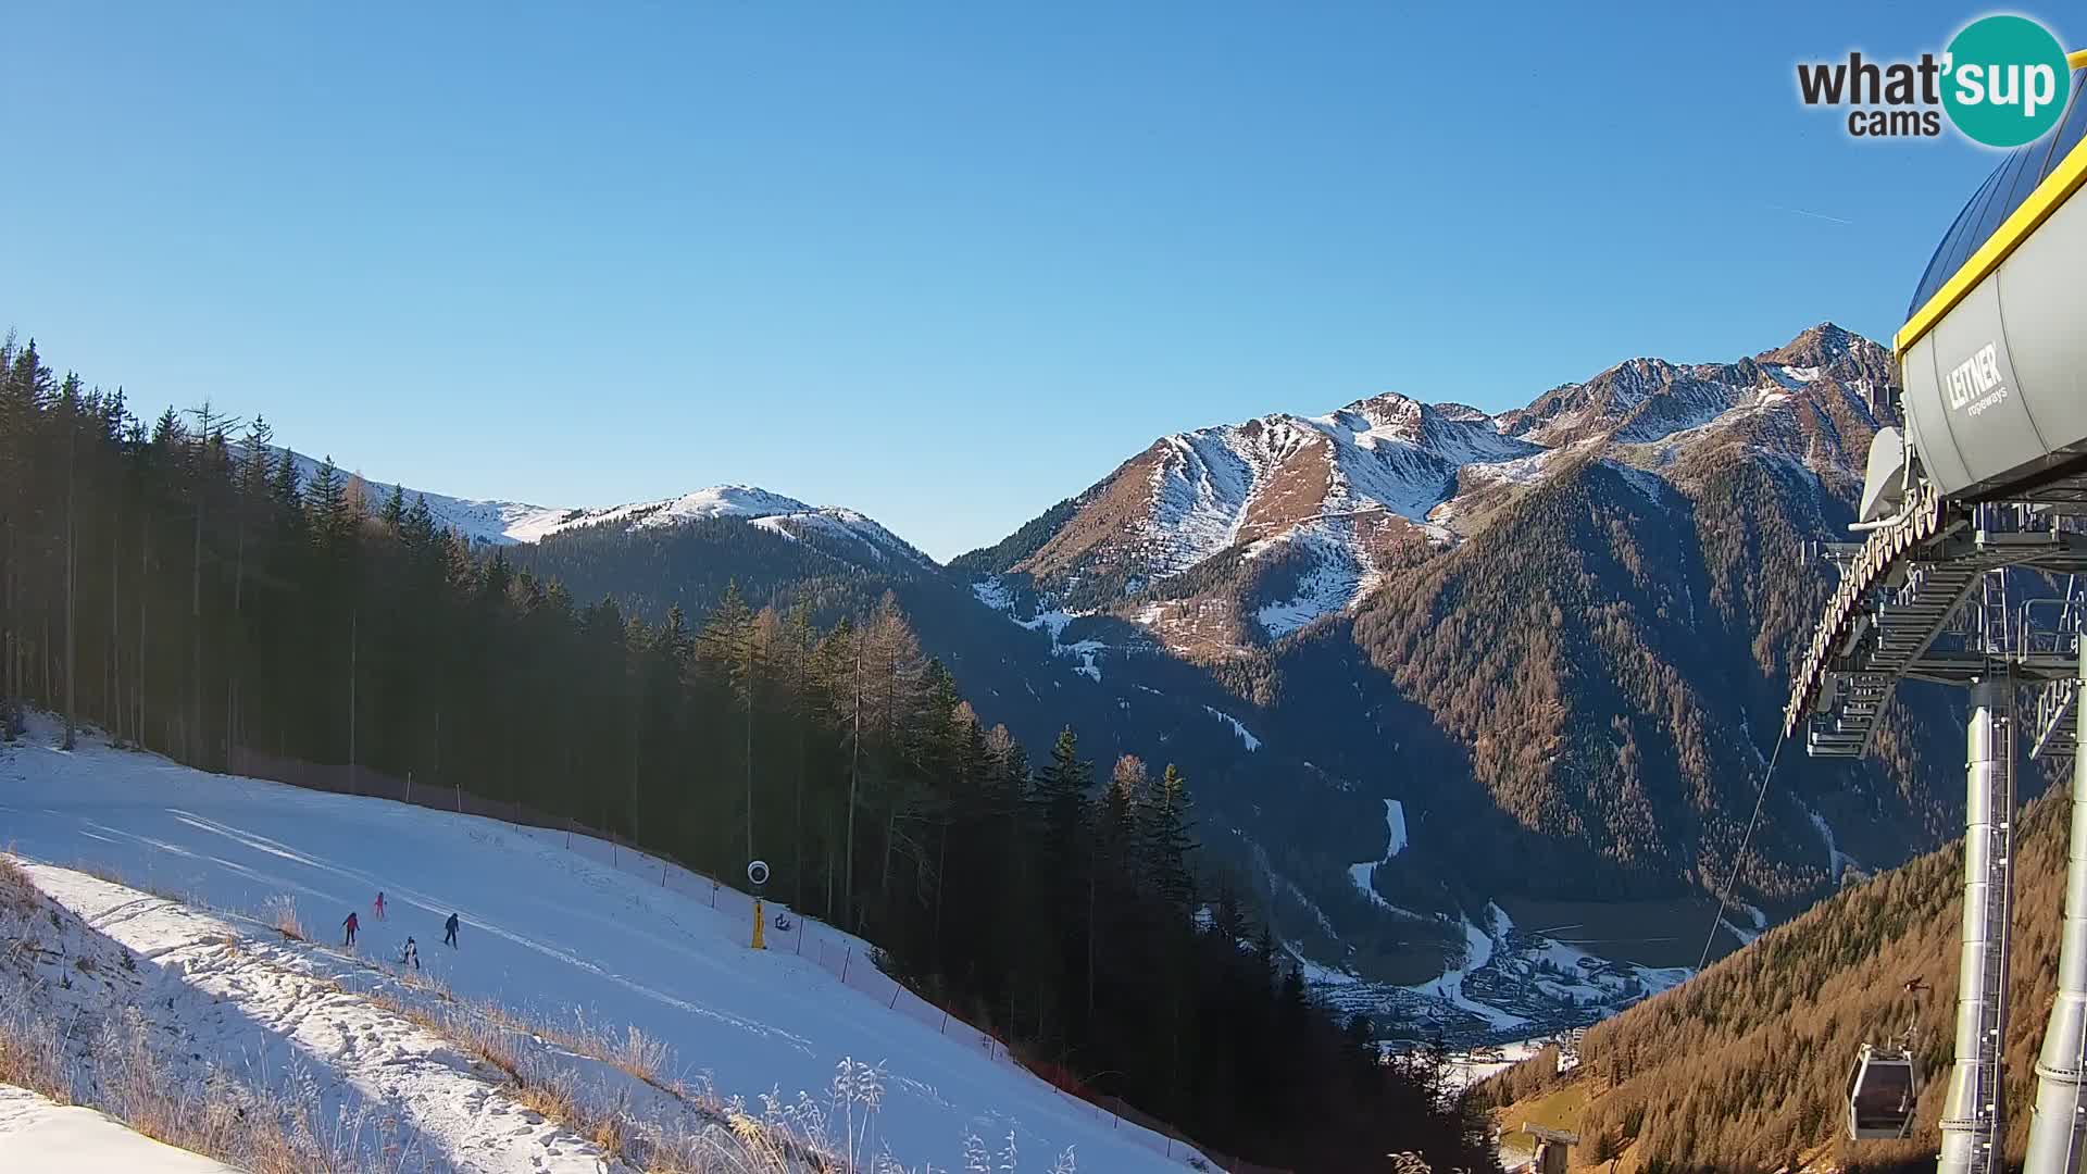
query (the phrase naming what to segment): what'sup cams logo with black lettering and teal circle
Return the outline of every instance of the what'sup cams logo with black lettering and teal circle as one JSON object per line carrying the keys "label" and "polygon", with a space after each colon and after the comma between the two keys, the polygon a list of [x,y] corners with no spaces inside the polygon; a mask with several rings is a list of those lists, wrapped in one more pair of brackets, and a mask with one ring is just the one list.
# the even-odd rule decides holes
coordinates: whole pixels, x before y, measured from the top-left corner
{"label": "what'sup cams logo with black lettering and teal circle", "polygon": [[1855,138],[1937,138],[1947,117],[1972,142],[2022,146],[2058,125],[2070,90],[2064,46],[2029,17],[1981,17],[1941,56],[1797,65],[1803,102],[1847,109]]}

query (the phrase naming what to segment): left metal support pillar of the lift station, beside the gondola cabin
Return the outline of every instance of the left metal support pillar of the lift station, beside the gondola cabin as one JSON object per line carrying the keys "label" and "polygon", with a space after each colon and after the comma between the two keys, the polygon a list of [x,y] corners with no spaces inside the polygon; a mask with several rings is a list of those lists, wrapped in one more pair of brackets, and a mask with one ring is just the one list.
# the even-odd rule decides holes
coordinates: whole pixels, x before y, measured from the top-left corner
{"label": "left metal support pillar of the lift station, beside the gondola cabin", "polygon": [[2006,679],[1970,687],[1964,769],[1964,953],[1958,959],[1956,1065],[1943,1101],[1937,1174],[2001,1168],[2001,1040],[2008,1017],[2010,831]]}

